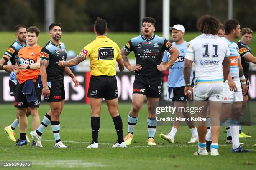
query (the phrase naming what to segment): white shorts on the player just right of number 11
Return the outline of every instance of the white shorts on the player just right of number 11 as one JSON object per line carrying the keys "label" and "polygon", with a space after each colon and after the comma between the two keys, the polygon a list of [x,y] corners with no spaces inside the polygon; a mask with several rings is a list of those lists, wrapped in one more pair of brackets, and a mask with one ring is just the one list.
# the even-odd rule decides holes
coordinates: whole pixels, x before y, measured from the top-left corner
{"label": "white shorts on the player just right of number 11", "polygon": [[224,103],[233,103],[233,102],[241,102],[243,101],[243,92],[240,80],[233,80],[236,83],[237,92],[232,92],[229,89],[228,80],[224,83],[224,96],[223,102]]}

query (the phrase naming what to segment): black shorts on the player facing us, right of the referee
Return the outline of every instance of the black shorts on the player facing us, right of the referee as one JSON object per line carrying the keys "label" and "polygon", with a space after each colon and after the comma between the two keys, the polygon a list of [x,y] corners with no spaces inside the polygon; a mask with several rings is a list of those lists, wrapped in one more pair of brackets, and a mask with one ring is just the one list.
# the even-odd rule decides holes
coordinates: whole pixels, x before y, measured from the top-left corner
{"label": "black shorts on the player facing us, right of the referee", "polygon": [[162,77],[145,77],[135,75],[133,94],[143,94],[147,97],[161,97]]}

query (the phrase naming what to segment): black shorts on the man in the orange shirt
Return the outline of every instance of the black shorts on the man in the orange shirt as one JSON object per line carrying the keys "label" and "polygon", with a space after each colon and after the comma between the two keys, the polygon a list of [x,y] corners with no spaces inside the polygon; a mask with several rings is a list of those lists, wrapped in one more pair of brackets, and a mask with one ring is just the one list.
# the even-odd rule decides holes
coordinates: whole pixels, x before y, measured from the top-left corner
{"label": "black shorts on the man in the orange shirt", "polygon": [[34,87],[36,90],[36,98],[37,98],[35,102],[27,102],[27,97],[22,92],[24,85],[25,83],[22,83],[22,84],[17,83],[17,94],[15,96],[14,107],[17,107],[17,108],[39,107],[41,102],[42,89],[39,87],[38,82],[34,83]]}

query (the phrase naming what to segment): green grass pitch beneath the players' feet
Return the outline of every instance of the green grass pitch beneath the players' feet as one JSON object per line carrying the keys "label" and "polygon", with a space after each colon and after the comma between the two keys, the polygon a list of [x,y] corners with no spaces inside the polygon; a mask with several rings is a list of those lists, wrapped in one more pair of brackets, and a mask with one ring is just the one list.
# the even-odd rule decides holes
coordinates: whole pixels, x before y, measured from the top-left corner
{"label": "green grass pitch beneath the players' feet", "polygon": [[[127,113],[131,103],[120,104],[120,115],[123,119],[123,132],[127,132]],[[0,129],[14,120],[15,108],[13,105],[0,105]],[[40,118],[43,119],[49,106],[40,106]],[[31,148],[29,145],[14,147],[14,142],[7,138],[2,131],[0,135],[0,161],[32,161],[32,169],[118,169],[118,170],[162,170],[162,169],[256,169],[256,153],[231,153],[231,145],[225,144],[225,129],[220,132],[220,156],[193,156],[197,144],[188,144],[191,133],[188,127],[180,127],[176,134],[175,143],[169,144],[159,137],[160,133],[169,132],[169,126],[158,126],[155,141],[158,145],[148,146],[146,105],[140,112],[140,119],[135,128],[133,143],[128,148],[111,148],[116,141],[115,127],[108,114],[106,105],[102,105],[100,117],[100,132],[98,149],[87,149],[92,140],[89,105],[67,104],[61,113],[60,123],[61,140],[68,148],[54,148],[54,136],[51,126],[43,134],[43,148]],[[27,133],[31,131],[31,117],[28,118]],[[256,127],[243,127],[253,138],[241,138],[245,147],[253,148],[256,143]],[[19,138],[18,128],[15,137]],[[11,168],[8,168],[11,169]],[[20,169],[20,168],[16,168]],[[29,168],[28,168],[29,169]]]}

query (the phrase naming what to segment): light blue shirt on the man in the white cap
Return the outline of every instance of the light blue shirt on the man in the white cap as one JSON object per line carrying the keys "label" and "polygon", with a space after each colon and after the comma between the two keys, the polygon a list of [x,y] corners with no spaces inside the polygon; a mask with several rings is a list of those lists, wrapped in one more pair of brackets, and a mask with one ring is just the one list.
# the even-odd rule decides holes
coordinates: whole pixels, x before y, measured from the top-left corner
{"label": "light blue shirt on the man in the white cap", "polygon": [[[170,67],[170,73],[168,75],[168,87],[182,87],[185,86],[185,80],[183,75],[184,59],[187,52],[187,43],[183,42],[182,44],[176,45],[175,42],[172,43],[179,50],[179,57]],[[165,51],[163,62],[167,62],[170,57],[170,53]],[[193,81],[193,70],[191,69],[190,82]]]}

